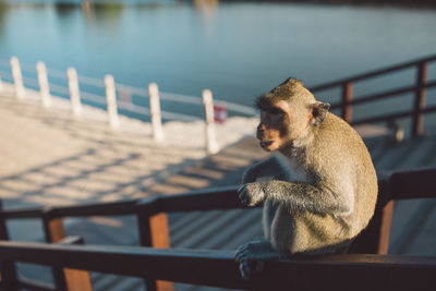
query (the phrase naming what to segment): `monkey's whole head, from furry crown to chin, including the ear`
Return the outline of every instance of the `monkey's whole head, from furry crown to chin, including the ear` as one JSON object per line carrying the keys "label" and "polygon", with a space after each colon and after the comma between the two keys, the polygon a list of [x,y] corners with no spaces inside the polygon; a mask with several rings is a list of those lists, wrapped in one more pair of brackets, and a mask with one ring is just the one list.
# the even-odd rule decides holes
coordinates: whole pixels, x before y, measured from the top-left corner
{"label": "monkey's whole head, from furry crown to chin, including the ear", "polygon": [[288,78],[256,101],[261,110],[257,138],[267,150],[280,150],[318,126],[327,114],[328,104],[316,101],[303,84]]}

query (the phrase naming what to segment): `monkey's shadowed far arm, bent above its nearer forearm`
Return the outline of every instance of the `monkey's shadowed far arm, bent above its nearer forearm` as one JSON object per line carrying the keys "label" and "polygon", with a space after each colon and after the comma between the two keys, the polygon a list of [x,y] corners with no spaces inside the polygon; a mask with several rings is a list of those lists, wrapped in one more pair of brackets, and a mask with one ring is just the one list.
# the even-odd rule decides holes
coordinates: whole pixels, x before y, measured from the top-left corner
{"label": "monkey's shadowed far arm, bent above its nearer forearm", "polygon": [[259,177],[274,177],[278,180],[284,180],[286,170],[283,170],[283,166],[279,158],[271,156],[247,168],[242,177],[242,183],[246,184],[255,182]]}

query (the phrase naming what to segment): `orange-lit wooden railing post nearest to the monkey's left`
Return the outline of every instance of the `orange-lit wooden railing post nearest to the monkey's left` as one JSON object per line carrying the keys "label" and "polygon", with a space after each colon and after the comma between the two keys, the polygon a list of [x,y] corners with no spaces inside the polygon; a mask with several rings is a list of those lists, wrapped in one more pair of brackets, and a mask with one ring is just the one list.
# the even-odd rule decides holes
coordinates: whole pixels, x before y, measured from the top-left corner
{"label": "orange-lit wooden railing post nearest to the monkey's left", "polygon": [[[140,244],[142,246],[153,246],[157,248],[169,248],[170,231],[168,227],[168,216],[158,213],[149,216],[146,210],[138,210],[137,225],[140,229]],[[145,279],[147,291],[172,291],[173,283],[161,280]]]}

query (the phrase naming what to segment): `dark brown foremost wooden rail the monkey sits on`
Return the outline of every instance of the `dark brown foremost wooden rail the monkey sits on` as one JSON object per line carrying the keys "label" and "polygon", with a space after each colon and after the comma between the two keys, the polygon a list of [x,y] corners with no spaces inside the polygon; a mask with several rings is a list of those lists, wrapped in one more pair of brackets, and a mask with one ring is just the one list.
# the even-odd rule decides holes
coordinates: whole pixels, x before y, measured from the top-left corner
{"label": "dark brown foremost wooden rail the monkey sits on", "polygon": [[0,242],[0,257],[231,289],[429,291],[436,282],[436,258],[402,255],[280,259],[266,264],[251,282],[240,278],[232,251]]}

